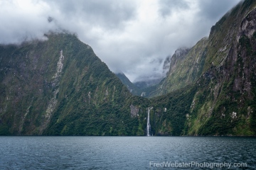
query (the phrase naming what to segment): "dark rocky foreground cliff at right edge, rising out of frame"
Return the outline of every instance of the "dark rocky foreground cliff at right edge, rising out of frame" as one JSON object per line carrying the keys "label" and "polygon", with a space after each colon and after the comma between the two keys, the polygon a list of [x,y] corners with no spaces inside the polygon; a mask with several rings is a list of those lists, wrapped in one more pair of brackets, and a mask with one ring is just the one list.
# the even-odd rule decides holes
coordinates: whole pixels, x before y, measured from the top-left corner
{"label": "dark rocky foreground cliff at right edge, rising out of frame", "polygon": [[255,135],[255,6],[244,1],[211,29],[188,134]]}

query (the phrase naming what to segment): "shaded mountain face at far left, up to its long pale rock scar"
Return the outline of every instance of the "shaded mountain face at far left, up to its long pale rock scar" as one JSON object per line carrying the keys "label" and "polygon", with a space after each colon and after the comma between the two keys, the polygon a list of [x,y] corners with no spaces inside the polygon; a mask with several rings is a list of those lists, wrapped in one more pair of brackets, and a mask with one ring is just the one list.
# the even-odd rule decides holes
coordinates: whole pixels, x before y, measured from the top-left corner
{"label": "shaded mountain face at far left, up to its long pale rock scar", "polygon": [[68,43],[59,40],[1,45],[2,134],[38,134],[48,124],[67,62],[61,50]]}

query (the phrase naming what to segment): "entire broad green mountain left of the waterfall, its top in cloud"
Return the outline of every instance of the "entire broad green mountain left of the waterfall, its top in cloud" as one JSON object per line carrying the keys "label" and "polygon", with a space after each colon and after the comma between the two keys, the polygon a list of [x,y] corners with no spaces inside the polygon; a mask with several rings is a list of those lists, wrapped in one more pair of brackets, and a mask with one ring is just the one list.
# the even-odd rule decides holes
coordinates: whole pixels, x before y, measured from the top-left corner
{"label": "entire broad green mountain left of the waterfall, its top in cloud", "polygon": [[92,48],[69,33],[46,36],[0,47],[0,134],[144,135],[142,110],[130,108],[139,99]]}

